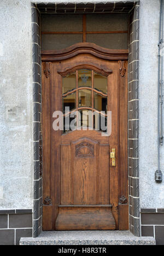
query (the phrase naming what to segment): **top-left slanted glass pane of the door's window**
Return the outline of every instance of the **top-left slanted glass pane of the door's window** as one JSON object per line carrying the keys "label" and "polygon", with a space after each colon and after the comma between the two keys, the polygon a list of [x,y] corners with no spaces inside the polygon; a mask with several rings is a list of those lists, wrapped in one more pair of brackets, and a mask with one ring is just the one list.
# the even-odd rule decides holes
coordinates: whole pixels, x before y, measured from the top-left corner
{"label": "top-left slanted glass pane of the door's window", "polygon": [[76,73],[63,77],[62,82],[62,93],[72,91],[76,87]]}

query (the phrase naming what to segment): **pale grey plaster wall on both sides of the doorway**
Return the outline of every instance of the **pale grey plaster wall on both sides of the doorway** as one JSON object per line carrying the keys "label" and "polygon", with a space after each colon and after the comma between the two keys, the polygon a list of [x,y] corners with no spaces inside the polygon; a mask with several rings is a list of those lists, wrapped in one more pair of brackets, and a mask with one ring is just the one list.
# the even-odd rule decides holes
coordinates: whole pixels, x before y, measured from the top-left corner
{"label": "pale grey plaster wall on both sides of the doorway", "polygon": [[[159,6],[159,0],[140,0],[139,189],[142,208],[164,207],[164,182],[157,184],[154,180]],[[0,208],[32,208],[30,0],[3,0],[0,23]],[[161,148],[162,171],[163,166],[164,146]]]}

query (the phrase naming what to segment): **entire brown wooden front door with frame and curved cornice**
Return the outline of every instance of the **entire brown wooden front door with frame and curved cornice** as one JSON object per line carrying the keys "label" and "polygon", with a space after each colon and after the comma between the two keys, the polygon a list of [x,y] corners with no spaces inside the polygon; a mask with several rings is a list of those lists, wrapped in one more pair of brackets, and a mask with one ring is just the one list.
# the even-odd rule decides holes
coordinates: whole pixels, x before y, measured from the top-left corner
{"label": "entire brown wooden front door with frame and curved cornice", "polygon": [[127,51],[79,43],[42,60],[43,230],[128,229]]}

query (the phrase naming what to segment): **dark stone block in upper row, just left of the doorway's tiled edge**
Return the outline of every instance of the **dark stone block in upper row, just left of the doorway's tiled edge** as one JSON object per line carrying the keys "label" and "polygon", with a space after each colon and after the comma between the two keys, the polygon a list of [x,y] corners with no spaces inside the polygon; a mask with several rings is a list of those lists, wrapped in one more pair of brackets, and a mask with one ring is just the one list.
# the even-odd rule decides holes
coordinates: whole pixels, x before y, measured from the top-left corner
{"label": "dark stone block in upper row, just left of the doorway's tiled edge", "polygon": [[10,214],[9,228],[32,227],[32,214]]}

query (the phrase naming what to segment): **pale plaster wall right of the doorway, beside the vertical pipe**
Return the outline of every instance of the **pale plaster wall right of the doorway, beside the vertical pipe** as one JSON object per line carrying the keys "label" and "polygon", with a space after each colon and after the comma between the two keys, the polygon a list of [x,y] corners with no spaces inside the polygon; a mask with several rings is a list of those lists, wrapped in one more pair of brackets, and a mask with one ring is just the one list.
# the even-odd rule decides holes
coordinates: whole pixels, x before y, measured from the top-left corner
{"label": "pale plaster wall right of the doorway, beside the vertical pipe", "polygon": [[[141,208],[164,207],[164,181],[154,180],[157,170],[157,44],[160,1],[140,1],[139,41],[139,190]],[[164,146],[161,147],[161,171]],[[164,174],[164,172],[163,172]]]}

